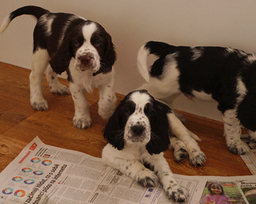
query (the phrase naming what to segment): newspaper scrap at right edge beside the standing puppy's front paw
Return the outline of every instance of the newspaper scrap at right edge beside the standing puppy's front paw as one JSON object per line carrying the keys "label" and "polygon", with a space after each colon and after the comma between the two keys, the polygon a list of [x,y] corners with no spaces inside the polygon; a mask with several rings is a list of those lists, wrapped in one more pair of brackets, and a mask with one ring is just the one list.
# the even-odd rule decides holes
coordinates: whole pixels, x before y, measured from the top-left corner
{"label": "newspaper scrap at right edge beside the standing puppy's front paw", "polygon": [[248,139],[248,135],[242,135],[242,141],[248,146],[248,154],[241,155],[244,163],[253,175],[256,175],[256,143]]}

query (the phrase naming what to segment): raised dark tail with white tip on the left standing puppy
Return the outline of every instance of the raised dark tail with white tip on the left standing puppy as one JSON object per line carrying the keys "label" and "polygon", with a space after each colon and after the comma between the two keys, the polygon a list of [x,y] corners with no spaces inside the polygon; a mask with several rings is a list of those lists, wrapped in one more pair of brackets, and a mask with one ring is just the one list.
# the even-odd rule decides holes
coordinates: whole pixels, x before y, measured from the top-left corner
{"label": "raised dark tail with white tip on the left standing puppy", "polygon": [[10,13],[8,16],[5,16],[3,22],[0,27],[0,33],[3,33],[5,29],[9,26],[10,22],[16,18],[17,16],[21,16],[23,14],[32,15],[39,20],[39,18],[44,15],[50,13],[48,10],[44,10],[42,7],[28,5],[25,7],[20,7],[14,12]]}

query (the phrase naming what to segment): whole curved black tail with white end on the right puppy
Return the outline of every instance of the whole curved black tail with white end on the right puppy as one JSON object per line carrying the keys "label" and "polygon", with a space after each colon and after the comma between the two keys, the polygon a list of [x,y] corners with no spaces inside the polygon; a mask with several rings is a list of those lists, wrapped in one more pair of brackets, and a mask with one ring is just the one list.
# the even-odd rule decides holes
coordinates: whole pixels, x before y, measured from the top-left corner
{"label": "whole curved black tail with white end on the right puppy", "polygon": [[148,41],[141,46],[137,55],[137,67],[142,77],[150,81],[150,68],[147,68],[147,56],[154,54],[158,57],[165,57],[175,51],[177,47],[159,41]]}

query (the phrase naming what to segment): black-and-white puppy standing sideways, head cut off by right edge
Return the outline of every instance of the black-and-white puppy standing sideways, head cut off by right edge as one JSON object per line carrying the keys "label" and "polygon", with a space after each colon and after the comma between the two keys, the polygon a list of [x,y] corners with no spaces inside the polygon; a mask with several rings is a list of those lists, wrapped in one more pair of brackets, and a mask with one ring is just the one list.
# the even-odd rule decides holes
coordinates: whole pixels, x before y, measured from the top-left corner
{"label": "black-and-white puppy standing sideways, head cut off by right edge", "polygon": [[[158,59],[147,68],[147,55]],[[246,154],[241,141],[241,124],[256,141],[256,57],[242,50],[221,47],[171,46],[149,41],[138,53],[137,65],[156,99],[172,105],[183,93],[218,102],[224,122],[227,148],[233,154]]]}

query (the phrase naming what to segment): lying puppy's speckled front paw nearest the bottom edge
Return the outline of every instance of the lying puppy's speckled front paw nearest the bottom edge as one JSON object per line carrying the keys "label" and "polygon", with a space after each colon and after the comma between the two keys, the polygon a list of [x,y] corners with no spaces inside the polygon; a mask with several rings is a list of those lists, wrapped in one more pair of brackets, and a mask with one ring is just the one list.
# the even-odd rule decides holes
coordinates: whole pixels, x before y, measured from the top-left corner
{"label": "lying puppy's speckled front paw nearest the bottom edge", "polygon": [[189,197],[188,190],[177,184],[175,186],[167,187],[165,191],[166,191],[167,197],[170,199],[173,199],[174,201],[184,202]]}

